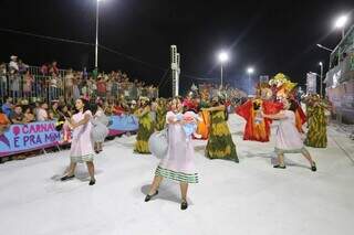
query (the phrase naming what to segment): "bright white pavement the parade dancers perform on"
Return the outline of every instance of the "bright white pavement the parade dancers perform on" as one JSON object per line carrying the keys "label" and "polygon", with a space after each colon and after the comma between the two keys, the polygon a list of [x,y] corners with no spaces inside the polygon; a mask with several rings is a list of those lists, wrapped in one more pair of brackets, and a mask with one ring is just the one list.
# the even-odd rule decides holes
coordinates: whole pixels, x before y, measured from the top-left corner
{"label": "bright white pavement the parade dancers perform on", "polygon": [[[3,235],[350,235],[354,233],[354,141],[329,128],[326,149],[309,148],[319,171],[298,154],[288,169],[271,165],[274,142],[242,140],[243,120],[229,120],[240,163],[208,160],[196,141],[200,183],[179,210],[178,184],[165,181],[148,203],[145,193],[158,160],[133,154],[134,137],[116,138],[95,158],[97,183],[84,165],[58,179],[69,151],[0,165]],[[273,131],[274,132],[274,131]],[[353,160],[351,160],[353,159]]]}

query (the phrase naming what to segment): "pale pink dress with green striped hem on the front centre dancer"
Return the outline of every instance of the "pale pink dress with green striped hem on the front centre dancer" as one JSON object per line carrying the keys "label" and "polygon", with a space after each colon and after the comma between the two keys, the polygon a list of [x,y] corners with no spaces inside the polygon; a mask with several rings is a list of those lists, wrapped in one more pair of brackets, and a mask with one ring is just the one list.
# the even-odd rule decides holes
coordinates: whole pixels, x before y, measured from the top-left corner
{"label": "pale pink dress with green striped hem on the front centre dancer", "polygon": [[[170,118],[177,119],[177,116],[178,114],[168,111],[166,124],[168,124],[168,119]],[[198,183],[198,174],[196,173],[194,163],[194,151],[192,142],[187,141],[183,126],[180,124],[168,124],[167,156],[162,159],[155,174],[178,182]]]}

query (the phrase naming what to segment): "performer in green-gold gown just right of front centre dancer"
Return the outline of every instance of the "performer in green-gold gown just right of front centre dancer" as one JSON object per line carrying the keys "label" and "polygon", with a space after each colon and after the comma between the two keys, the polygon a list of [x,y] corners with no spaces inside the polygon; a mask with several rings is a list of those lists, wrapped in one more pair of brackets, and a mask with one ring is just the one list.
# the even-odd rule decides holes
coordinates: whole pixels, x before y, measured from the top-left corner
{"label": "performer in green-gold gown just right of front centre dancer", "polygon": [[210,111],[211,116],[206,156],[209,159],[228,159],[238,163],[236,146],[227,124],[228,113],[226,111],[223,97],[212,98],[211,105],[212,107],[202,109]]}

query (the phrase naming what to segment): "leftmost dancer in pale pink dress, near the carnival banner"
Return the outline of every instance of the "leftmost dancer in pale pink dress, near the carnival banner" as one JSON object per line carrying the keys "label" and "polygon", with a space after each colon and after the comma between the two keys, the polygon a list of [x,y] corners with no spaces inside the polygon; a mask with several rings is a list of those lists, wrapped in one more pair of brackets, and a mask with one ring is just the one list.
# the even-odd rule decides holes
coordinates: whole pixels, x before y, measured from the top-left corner
{"label": "leftmost dancer in pale pink dress, near the carnival banner", "polygon": [[71,119],[66,119],[71,129],[73,129],[73,139],[70,149],[70,168],[61,181],[65,181],[75,177],[76,163],[86,162],[87,170],[91,177],[90,185],[95,184],[94,164],[93,164],[93,145],[91,140],[92,114],[88,110],[88,103],[82,98],[76,99],[75,107],[77,114]]}

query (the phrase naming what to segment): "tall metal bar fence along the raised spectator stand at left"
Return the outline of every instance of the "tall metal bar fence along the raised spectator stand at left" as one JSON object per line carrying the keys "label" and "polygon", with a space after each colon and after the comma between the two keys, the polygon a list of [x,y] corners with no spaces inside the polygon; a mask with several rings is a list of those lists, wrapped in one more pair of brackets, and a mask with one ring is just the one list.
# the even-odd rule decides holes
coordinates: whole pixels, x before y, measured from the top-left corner
{"label": "tall metal bar fence along the raised spectator stand at left", "polygon": [[104,82],[105,92],[100,93],[97,81],[87,79],[82,75],[72,79],[69,85],[65,70],[59,70],[55,75],[42,73],[40,67],[29,66],[29,73],[7,73],[0,71],[0,103],[7,97],[14,102],[27,99],[28,102],[46,100],[52,102],[63,97],[65,102],[81,96],[115,100],[118,98],[137,99],[139,96],[149,98],[158,97],[158,89],[155,87],[138,87],[134,83],[118,83],[116,81]]}

